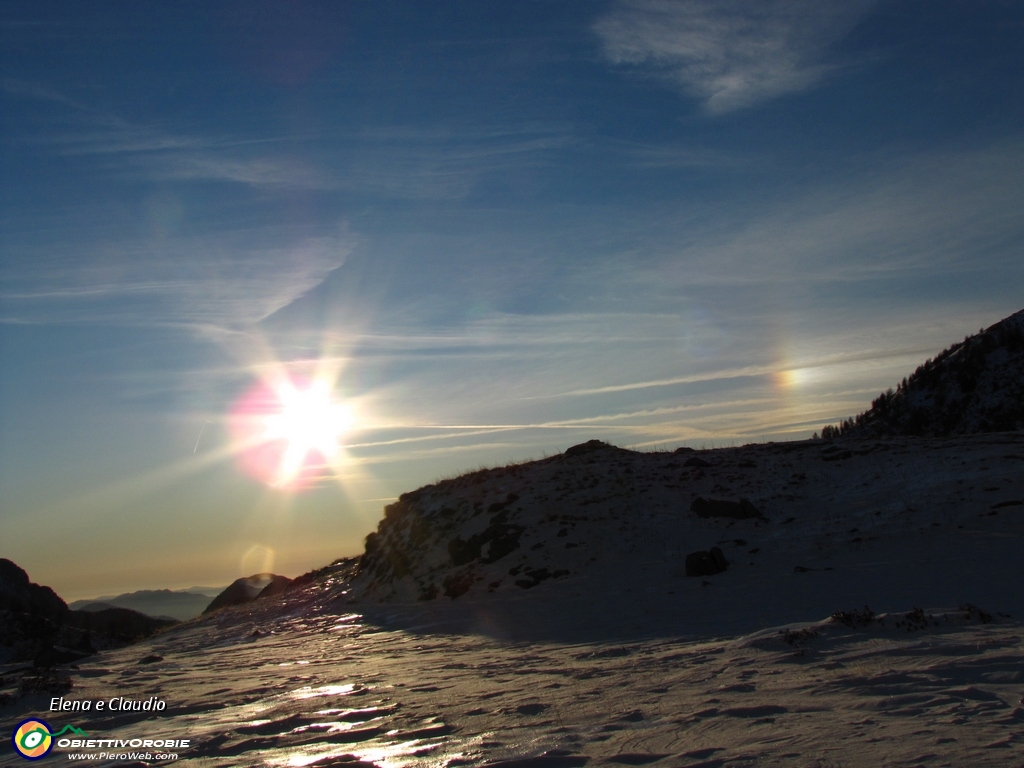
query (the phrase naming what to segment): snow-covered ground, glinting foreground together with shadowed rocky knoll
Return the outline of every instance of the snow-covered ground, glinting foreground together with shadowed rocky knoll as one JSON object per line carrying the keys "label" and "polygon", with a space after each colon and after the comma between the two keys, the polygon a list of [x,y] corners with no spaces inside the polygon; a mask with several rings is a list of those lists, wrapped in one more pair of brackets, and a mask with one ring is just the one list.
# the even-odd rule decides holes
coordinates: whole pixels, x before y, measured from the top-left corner
{"label": "snow-covered ground, glinting foreground together with shadowed rocky knoll", "polygon": [[361,566],[0,711],[200,766],[1024,766],[1022,470],[1021,433],[588,444],[406,495]]}

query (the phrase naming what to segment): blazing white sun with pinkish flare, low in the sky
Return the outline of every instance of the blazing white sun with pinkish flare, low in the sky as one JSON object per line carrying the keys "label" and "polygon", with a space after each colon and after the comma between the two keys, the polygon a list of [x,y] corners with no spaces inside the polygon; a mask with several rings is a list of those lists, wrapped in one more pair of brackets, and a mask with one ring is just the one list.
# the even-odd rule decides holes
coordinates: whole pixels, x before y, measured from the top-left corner
{"label": "blazing white sun with pinkish flare, low in the sky", "polygon": [[326,379],[282,377],[243,395],[231,419],[243,468],[287,488],[306,486],[332,471],[352,415],[331,390]]}

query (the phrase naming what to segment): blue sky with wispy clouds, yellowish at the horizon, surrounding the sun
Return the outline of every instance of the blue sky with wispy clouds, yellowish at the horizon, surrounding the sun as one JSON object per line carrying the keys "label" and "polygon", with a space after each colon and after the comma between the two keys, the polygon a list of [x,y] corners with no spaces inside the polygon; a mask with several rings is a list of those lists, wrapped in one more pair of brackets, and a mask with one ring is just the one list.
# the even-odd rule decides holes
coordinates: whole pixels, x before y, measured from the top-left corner
{"label": "blue sky with wispy clouds, yellowish at the horizon, surrounding the sun", "polygon": [[[809,436],[1024,304],[1016,2],[5,2],[3,556],[295,575],[592,437]],[[302,493],[228,414],[330,371]]]}

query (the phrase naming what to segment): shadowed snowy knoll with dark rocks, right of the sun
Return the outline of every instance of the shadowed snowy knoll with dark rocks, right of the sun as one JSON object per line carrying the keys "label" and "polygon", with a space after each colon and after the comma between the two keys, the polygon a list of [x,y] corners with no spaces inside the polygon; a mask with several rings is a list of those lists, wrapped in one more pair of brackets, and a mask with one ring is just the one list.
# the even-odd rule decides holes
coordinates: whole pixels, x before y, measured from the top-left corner
{"label": "shadowed snowy knoll with dark rocks, right of the sun", "polygon": [[[1022,522],[1024,433],[677,453],[592,441],[406,494],[368,537],[351,597],[502,602],[535,589],[668,596],[716,583],[755,595],[766,580],[817,571],[807,578],[822,585],[842,574],[829,588],[840,601],[859,594],[844,586],[854,571],[853,583],[867,589],[865,563],[887,563],[879,583],[903,584],[924,572],[914,563],[933,557],[994,567],[975,560],[1018,546]],[[687,555],[712,547],[728,569],[687,578]],[[940,569],[927,582],[940,590],[944,579]],[[887,592],[895,596],[898,585]],[[959,594],[947,592],[936,599]],[[905,598],[925,599],[916,594]]]}

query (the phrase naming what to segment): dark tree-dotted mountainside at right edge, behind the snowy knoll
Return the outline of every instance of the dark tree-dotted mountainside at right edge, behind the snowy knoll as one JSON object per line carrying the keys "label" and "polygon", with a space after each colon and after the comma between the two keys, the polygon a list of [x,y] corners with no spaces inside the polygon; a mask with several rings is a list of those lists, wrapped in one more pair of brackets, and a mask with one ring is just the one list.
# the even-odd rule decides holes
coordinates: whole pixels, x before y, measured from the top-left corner
{"label": "dark tree-dotted mountainside at right edge, behind the snowy knoll", "polygon": [[934,437],[1024,429],[1024,310],[969,336],[822,437]]}

